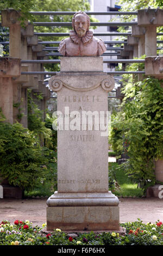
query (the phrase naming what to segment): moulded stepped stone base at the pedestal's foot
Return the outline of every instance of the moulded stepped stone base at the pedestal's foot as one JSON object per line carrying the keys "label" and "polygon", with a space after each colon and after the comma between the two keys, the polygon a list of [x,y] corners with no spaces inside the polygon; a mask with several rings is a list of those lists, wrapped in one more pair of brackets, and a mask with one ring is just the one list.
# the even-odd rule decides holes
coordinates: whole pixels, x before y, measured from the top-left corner
{"label": "moulded stepped stone base at the pedestal's foot", "polygon": [[47,230],[120,230],[118,198],[104,193],[55,193],[47,200]]}

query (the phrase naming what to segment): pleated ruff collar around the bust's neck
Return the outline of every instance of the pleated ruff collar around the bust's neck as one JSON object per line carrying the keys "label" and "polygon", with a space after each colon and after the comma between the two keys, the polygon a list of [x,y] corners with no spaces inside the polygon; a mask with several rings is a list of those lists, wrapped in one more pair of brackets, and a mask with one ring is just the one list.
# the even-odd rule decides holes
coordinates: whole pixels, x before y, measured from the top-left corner
{"label": "pleated ruff collar around the bust's neck", "polygon": [[78,34],[75,31],[70,31],[70,38],[74,42],[74,44],[79,44],[80,40],[82,40],[83,44],[87,44],[90,42],[93,38],[93,32],[92,31],[87,31],[85,36],[80,38]]}

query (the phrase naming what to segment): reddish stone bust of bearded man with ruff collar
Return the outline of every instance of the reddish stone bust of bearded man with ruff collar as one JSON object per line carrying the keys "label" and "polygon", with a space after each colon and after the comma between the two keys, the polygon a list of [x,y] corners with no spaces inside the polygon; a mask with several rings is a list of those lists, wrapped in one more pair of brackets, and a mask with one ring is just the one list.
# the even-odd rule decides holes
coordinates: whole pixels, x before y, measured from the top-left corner
{"label": "reddish stone bust of bearded man with ruff collar", "polygon": [[70,37],[59,44],[58,51],[62,56],[100,56],[106,51],[103,40],[89,31],[90,17],[83,11],[74,14],[72,27]]}

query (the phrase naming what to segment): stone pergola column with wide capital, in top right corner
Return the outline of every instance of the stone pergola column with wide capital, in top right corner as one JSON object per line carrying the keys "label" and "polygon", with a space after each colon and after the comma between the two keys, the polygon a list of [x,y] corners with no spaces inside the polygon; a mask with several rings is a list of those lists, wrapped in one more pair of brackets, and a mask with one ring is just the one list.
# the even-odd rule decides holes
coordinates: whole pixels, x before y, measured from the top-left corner
{"label": "stone pergola column with wide capital, in top right corner", "polygon": [[138,10],[137,25],[145,27],[145,54],[156,56],[156,27],[163,25],[162,9]]}

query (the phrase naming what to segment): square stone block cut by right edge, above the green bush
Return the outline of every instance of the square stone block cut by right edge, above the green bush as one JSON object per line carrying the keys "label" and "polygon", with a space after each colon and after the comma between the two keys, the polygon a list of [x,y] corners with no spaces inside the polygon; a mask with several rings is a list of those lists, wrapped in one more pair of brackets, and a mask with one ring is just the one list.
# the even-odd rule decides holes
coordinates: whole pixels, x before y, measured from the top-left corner
{"label": "square stone block cut by right edge, above the green bush", "polygon": [[163,56],[145,58],[146,75],[163,78]]}

